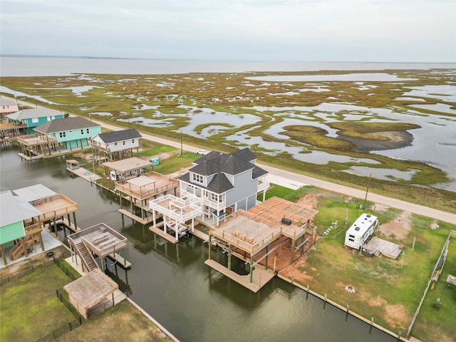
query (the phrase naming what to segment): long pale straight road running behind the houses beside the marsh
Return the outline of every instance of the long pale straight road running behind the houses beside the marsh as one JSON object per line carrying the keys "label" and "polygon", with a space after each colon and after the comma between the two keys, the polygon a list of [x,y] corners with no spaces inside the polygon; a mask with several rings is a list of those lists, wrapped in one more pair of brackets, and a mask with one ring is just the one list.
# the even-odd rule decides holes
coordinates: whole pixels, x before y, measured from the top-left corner
{"label": "long pale straight road running behind the houses beside the marsh", "polygon": [[[32,103],[25,103],[23,101],[19,101],[19,103],[21,103],[23,105],[28,105],[29,107],[35,107],[35,105]],[[40,107],[41,106],[38,105],[38,108],[40,108]],[[125,128],[120,128],[115,125],[110,125],[110,124],[102,123],[102,122],[95,121],[95,120],[93,120],[93,122],[98,123],[98,124],[102,125],[103,127],[108,128],[110,130],[125,129]],[[159,142],[160,144],[170,145],[170,146],[177,147],[177,148],[181,147],[180,142],[157,138],[155,136],[148,135],[145,133],[141,133],[141,134],[146,140]],[[196,152],[197,150],[199,150],[199,147],[182,144],[182,149],[186,150],[186,151],[190,151],[190,152]],[[259,164],[261,164],[261,163],[259,162]],[[277,167],[271,167],[271,166],[267,166],[267,165],[261,165],[261,167],[264,170],[269,172],[269,182],[272,182],[272,183],[278,184],[278,185],[282,185],[284,187],[290,187],[291,189],[297,189],[298,187],[301,187],[302,185],[313,185],[313,186],[319,187],[321,189],[331,190],[331,191],[338,192],[343,195],[347,195],[347,196],[351,196],[351,197],[357,197],[357,198],[364,199],[364,197],[366,196],[365,191],[354,189],[353,187],[346,187],[344,185],[338,185],[335,183],[327,182],[325,180],[318,180],[317,178],[313,178],[313,177],[309,177],[309,176],[305,176],[305,175],[299,175],[294,172],[281,170]],[[382,195],[376,195],[372,192],[368,193],[368,200],[371,202],[374,202],[374,203],[387,205],[388,207],[405,210],[406,212],[412,212],[414,214],[420,214],[423,216],[438,219],[440,221],[456,224],[456,214],[451,214],[450,212],[443,212],[442,210],[432,209],[430,207],[425,207],[423,205],[401,201],[400,199],[395,199],[395,198],[386,197],[386,196],[382,196]]]}

